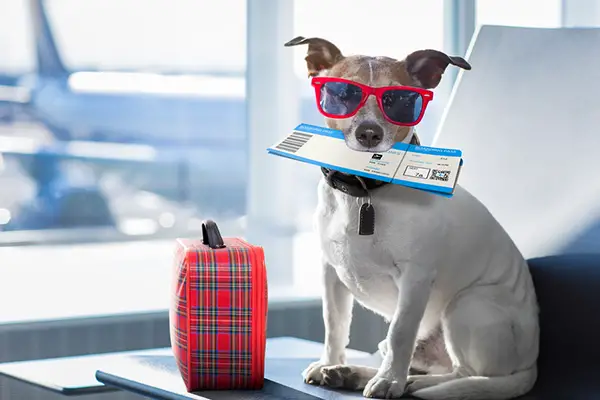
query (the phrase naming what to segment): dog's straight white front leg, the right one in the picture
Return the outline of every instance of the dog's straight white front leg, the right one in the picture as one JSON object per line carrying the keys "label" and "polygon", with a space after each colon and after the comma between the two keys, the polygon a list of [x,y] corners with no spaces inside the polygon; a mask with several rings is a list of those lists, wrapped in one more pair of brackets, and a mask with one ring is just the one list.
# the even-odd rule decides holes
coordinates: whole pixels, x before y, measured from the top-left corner
{"label": "dog's straight white front leg, the right one in the picture", "polygon": [[404,393],[433,274],[419,266],[407,266],[394,281],[398,286],[398,300],[386,337],[387,352],[377,374],[363,391],[365,397],[395,399]]}

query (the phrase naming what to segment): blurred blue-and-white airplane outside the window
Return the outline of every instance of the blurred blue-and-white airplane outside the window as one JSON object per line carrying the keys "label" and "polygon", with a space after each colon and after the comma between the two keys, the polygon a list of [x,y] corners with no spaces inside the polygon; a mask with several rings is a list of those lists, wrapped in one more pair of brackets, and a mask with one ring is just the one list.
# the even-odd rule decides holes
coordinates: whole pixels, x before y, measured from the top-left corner
{"label": "blurred blue-and-white airplane outside the window", "polygon": [[[37,68],[0,76],[0,124],[35,121],[52,140],[0,135],[0,157],[17,157],[37,188],[0,231],[114,226],[98,185],[98,176],[111,170],[140,191],[207,212],[244,214],[243,72],[69,70],[44,0],[30,0],[29,7]],[[313,98],[303,100],[301,115],[315,121]],[[69,160],[93,165],[96,178],[70,182],[60,167]]]}

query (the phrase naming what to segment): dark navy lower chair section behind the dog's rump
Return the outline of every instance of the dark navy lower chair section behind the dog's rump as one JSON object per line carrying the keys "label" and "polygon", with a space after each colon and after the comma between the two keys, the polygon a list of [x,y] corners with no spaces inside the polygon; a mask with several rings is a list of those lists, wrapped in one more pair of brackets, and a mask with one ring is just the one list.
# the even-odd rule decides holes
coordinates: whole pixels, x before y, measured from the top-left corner
{"label": "dark navy lower chair section behind the dog's rump", "polygon": [[600,398],[600,256],[528,261],[540,305],[538,380],[524,399]]}

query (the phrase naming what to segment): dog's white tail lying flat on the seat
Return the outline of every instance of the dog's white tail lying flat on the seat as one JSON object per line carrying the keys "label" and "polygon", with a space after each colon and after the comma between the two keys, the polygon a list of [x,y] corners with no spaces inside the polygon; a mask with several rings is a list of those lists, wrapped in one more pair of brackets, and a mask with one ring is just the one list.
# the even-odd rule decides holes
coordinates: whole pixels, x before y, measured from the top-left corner
{"label": "dog's white tail lying flat on the seat", "polygon": [[412,395],[423,400],[507,400],[527,393],[536,379],[537,368],[533,367],[508,376],[459,378],[417,390]]}

